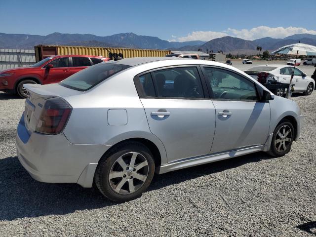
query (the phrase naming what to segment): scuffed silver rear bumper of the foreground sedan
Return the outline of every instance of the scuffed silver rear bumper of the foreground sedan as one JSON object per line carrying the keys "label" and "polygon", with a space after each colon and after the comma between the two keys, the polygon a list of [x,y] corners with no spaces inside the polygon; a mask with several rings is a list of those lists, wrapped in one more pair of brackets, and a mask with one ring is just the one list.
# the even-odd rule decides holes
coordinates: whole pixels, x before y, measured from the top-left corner
{"label": "scuffed silver rear bumper of the foreground sedan", "polygon": [[17,156],[30,175],[46,183],[79,183],[91,187],[99,159],[111,147],[70,143],[63,133],[29,135],[24,116],[16,133]]}

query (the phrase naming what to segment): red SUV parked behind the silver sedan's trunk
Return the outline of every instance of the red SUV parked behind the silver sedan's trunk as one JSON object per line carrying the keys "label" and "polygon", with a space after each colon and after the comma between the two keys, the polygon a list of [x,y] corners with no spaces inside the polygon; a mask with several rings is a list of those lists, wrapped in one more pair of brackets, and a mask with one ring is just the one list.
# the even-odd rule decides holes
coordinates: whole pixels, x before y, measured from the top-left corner
{"label": "red SUV parked behind the silver sedan's trunk", "polygon": [[0,91],[17,93],[26,98],[23,84],[50,84],[59,82],[86,67],[110,60],[101,56],[51,56],[28,68],[15,68],[0,72]]}

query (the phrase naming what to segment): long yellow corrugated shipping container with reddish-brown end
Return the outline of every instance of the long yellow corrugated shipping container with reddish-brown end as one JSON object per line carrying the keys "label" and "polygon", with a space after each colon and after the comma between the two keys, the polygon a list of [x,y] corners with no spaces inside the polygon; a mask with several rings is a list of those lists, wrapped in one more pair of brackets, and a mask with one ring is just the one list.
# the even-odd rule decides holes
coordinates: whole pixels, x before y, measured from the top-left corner
{"label": "long yellow corrugated shipping container with reddish-brown end", "polygon": [[132,57],[164,57],[170,50],[135,49],[135,48],[102,48],[63,45],[37,45],[35,48],[36,62],[53,55],[95,55],[110,58],[108,49],[113,54],[123,58]]}

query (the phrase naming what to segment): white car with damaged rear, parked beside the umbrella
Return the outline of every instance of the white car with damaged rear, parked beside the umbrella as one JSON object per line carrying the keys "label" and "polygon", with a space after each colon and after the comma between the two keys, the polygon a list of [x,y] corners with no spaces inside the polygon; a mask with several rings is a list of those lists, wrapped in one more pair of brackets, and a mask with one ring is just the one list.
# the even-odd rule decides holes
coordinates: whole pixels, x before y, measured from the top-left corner
{"label": "white car with damaged rear, parked beside the umbrella", "polygon": [[[312,94],[315,80],[293,66],[261,65],[245,71],[246,74],[264,84],[268,89],[269,86],[276,83],[289,84],[293,72],[292,84],[294,84],[294,92],[303,92],[305,95]],[[264,79],[263,76],[265,76]],[[275,94],[282,96],[284,92],[284,89],[280,88]]]}

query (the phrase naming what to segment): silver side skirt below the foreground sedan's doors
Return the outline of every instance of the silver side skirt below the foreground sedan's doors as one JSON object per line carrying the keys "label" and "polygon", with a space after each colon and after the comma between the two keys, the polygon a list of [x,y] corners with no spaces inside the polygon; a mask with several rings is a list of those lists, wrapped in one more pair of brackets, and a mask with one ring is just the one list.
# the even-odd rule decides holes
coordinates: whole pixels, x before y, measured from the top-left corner
{"label": "silver side skirt below the foreground sedan's doors", "polygon": [[158,168],[158,174],[163,174],[163,173],[167,173],[167,172],[178,170],[178,169],[193,167],[196,165],[211,163],[218,160],[239,157],[239,156],[243,156],[243,155],[254,153],[254,152],[260,152],[260,151],[263,151],[264,148],[265,148],[265,145],[258,145],[258,146],[241,148],[241,149],[237,149],[233,151],[206,155],[206,156],[201,156],[201,157],[196,157],[196,158],[186,158],[186,159],[182,159],[179,161],[175,161],[175,162],[160,166]]}

